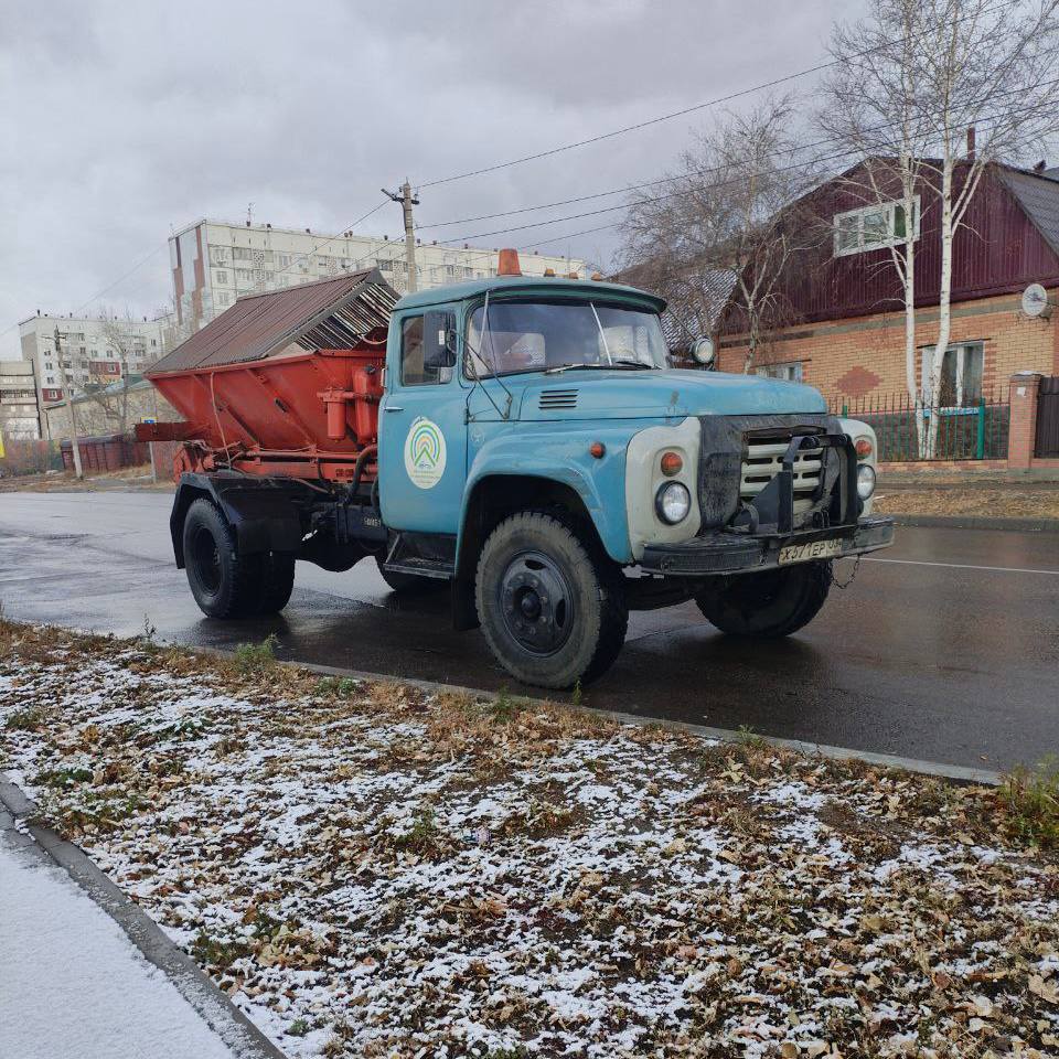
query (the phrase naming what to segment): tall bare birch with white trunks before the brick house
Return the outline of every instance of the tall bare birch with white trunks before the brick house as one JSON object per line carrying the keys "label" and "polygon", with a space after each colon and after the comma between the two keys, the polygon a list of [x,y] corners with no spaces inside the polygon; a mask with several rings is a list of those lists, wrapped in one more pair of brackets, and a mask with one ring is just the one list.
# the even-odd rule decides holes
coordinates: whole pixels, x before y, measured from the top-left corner
{"label": "tall bare birch with white trunks before the brick house", "polygon": [[[953,240],[982,175],[1038,149],[1055,128],[1057,7],[1059,0],[877,0],[866,22],[835,30],[833,130],[867,154],[889,158],[909,221],[918,190],[927,192],[924,211],[940,211],[938,341],[924,353],[922,386],[914,377],[914,224],[894,255],[906,290],[909,391],[921,389],[928,403],[940,395],[951,334]],[[924,454],[933,454],[937,436],[934,415]]]}

